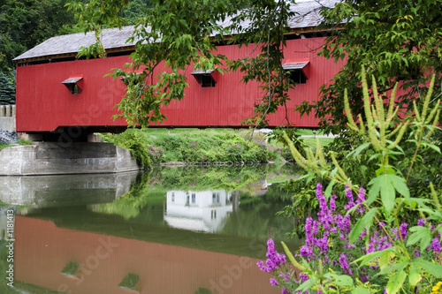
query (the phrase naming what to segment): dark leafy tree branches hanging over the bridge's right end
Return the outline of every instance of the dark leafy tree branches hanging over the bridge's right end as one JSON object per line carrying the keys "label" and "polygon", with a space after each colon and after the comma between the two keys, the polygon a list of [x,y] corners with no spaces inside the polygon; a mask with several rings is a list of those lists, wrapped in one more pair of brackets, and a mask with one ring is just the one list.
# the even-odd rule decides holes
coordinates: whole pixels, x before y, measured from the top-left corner
{"label": "dark leafy tree branches hanging over the bridge's right end", "polygon": [[[343,0],[332,9],[324,9],[325,26],[332,31],[320,54],[347,64],[321,88],[318,102],[304,102],[298,109],[308,113],[316,109],[320,126],[339,133],[346,127],[344,90],[355,115],[362,109],[361,73],[365,65],[370,77],[378,80],[380,93],[400,82],[396,103],[411,110],[415,97],[427,92],[431,75],[436,75],[435,92],[442,78],[442,7],[441,0]],[[432,100],[436,102],[437,97]],[[363,113],[362,113],[363,116]]]}

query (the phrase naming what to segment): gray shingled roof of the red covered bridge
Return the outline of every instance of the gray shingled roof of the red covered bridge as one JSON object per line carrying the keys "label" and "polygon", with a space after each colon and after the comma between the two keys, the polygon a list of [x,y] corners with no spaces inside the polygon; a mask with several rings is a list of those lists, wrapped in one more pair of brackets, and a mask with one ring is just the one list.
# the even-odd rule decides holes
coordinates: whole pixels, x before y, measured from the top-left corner
{"label": "gray shingled roof of the red covered bridge", "polygon": [[[319,14],[320,8],[324,6],[333,6],[339,0],[311,0],[291,4],[291,9],[296,11],[296,16],[290,19],[289,26],[291,28],[318,26],[322,20]],[[227,26],[229,19],[226,19],[222,25]],[[247,27],[246,22],[243,27]],[[124,26],[121,30],[118,28],[103,29],[102,42],[104,49],[118,49],[133,46],[126,40],[133,33],[133,26]],[[95,43],[95,34],[89,32],[87,34],[65,34],[52,37],[47,41],[35,46],[33,49],[15,57],[14,61],[35,57],[51,57],[64,54],[74,54],[79,52],[80,47],[88,47]]]}

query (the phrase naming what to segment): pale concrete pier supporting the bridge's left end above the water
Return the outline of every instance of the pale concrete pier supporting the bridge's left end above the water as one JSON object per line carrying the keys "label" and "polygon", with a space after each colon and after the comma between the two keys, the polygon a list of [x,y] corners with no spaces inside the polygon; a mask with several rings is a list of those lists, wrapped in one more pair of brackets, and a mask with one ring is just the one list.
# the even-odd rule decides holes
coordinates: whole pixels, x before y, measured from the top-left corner
{"label": "pale concrete pier supporting the bridge's left end above the water", "polygon": [[0,176],[116,173],[140,170],[130,151],[112,143],[57,142],[7,147],[0,151]]}

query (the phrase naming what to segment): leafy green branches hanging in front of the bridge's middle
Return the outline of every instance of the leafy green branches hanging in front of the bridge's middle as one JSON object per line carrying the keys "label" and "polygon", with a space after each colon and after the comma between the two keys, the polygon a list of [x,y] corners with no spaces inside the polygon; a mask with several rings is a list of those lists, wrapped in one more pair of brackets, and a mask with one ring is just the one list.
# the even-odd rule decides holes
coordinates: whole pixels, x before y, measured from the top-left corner
{"label": "leafy green branches hanging in front of the bridge's middle", "polygon": [[[185,72],[189,66],[202,71],[216,70],[224,73],[240,71],[242,81],[257,81],[263,92],[262,102],[255,107],[255,114],[248,124],[263,125],[265,117],[278,107],[285,107],[290,87],[286,71],[282,69],[287,33],[287,20],[293,17],[290,3],[286,1],[236,1],[210,2],[152,0],[141,6],[139,1],[129,3],[117,0],[91,0],[88,5],[69,4],[84,31],[95,30],[96,43],[82,49],[81,55],[103,57],[100,42],[103,26],[124,24],[122,15],[135,22],[135,29],[128,41],[136,44],[131,55],[133,62],[126,69],[115,69],[115,79],[125,78],[126,95],[118,103],[120,117],[129,125],[147,127],[161,123],[166,118],[161,108],[183,99],[188,87]],[[141,18],[133,17],[134,7],[144,12]],[[220,26],[232,18],[229,26]],[[251,20],[249,25],[242,22]],[[233,33],[232,33],[233,32]],[[237,34],[236,32],[241,32]],[[231,42],[239,46],[256,44],[253,57],[227,60],[217,52],[218,44],[225,44],[224,35],[232,35]],[[136,76],[135,70],[142,70]],[[135,82],[140,81],[143,82]],[[287,124],[288,118],[287,118]]]}

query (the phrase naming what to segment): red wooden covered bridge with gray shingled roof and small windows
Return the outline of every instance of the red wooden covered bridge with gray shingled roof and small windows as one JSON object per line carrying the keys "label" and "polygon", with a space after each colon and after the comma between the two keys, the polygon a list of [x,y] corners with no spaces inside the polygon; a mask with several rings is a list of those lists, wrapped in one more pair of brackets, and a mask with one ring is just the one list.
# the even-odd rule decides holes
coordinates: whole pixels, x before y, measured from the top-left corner
{"label": "red wooden covered bridge with gray shingled roof and small windows", "polygon": [[[300,127],[316,127],[313,114],[300,118],[293,105],[315,101],[319,87],[329,82],[342,64],[317,56],[325,32],[317,27],[321,17],[316,1],[296,4],[293,9],[299,14],[290,22],[283,67],[297,72],[301,83],[289,90],[288,118]],[[16,57],[17,131],[49,133],[69,127],[87,128],[88,132],[125,129],[126,121],[111,117],[117,113],[114,106],[125,94],[126,85],[120,79],[104,75],[112,68],[124,68],[129,61],[134,46],[126,43],[126,39],[132,31],[131,26],[103,30],[105,58],[77,58],[81,46],[95,42],[93,33],[53,37]],[[229,59],[237,59],[248,56],[253,46],[225,45],[217,49]],[[240,79],[240,72],[224,75],[212,72],[205,77],[198,72],[187,72],[189,87],[184,99],[164,108],[168,120],[156,126],[241,127],[240,122],[252,116],[255,103],[263,95],[257,83],[245,85]],[[284,124],[285,117],[285,109],[271,115],[271,126]]]}

